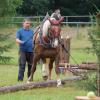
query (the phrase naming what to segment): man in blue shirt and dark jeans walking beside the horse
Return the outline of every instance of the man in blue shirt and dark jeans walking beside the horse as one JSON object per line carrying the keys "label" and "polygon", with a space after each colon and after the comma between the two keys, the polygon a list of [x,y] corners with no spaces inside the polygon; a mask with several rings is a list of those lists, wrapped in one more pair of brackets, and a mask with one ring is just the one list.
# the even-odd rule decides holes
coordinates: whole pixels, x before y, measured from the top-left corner
{"label": "man in blue shirt and dark jeans walking beside the horse", "polygon": [[33,58],[33,31],[30,20],[24,19],[23,28],[16,32],[16,43],[19,44],[19,73],[18,81],[23,81],[26,62],[28,64],[27,77],[30,76]]}

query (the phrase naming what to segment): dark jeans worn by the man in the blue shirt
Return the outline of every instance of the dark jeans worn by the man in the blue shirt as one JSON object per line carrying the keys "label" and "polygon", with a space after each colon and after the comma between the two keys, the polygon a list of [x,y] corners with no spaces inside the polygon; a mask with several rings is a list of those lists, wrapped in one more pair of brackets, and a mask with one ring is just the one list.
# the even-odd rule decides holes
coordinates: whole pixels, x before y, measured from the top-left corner
{"label": "dark jeans worn by the man in the blue shirt", "polygon": [[19,51],[18,81],[23,81],[26,63],[28,65],[27,77],[30,76],[32,62],[33,62],[33,53],[32,52]]}

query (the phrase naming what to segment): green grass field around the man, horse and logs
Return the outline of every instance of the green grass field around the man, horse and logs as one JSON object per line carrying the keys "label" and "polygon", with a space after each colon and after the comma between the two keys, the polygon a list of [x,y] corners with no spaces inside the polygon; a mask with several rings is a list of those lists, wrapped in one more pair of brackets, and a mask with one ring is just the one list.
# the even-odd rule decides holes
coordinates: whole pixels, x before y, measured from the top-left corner
{"label": "green grass field around the man, horse and logs", "polygon": [[[12,40],[15,41],[16,29],[2,29],[1,32],[11,32]],[[80,35],[81,34],[81,35]],[[71,57],[70,63],[81,63],[83,61],[96,61],[95,54],[87,53],[85,48],[91,46],[91,43],[87,39],[87,35],[80,33],[71,39]],[[13,57],[13,59],[7,64],[0,64],[0,86],[19,84],[17,82],[18,75],[18,46],[14,42],[13,48],[4,53]],[[74,58],[74,60],[72,59]],[[25,71],[24,81],[27,81],[26,77],[27,68]],[[65,77],[62,75],[62,77]],[[55,72],[53,70],[53,79],[56,79]],[[37,70],[34,76],[34,81],[41,81],[41,66],[37,66]],[[0,94],[0,100],[74,100],[75,96],[86,95],[87,90],[79,87],[80,82],[72,82],[64,85],[62,88],[46,87],[37,88],[27,91],[19,91],[15,93]]]}

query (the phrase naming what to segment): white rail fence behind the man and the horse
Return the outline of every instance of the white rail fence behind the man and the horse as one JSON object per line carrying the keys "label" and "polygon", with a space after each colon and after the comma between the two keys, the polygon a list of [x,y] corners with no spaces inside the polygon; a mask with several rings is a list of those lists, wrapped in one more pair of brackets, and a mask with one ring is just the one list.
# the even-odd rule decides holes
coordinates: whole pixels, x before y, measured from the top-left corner
{"label": "white rail fence behind the man and the horse", "polygon": [[[39,24],[43,20],[44,16],[12,17],[12,24],[21,24],[24,18],[30,18],[32,24]],[[64,25],[92,24],[91,16],[64,16],[64,21],[62,23]]]}

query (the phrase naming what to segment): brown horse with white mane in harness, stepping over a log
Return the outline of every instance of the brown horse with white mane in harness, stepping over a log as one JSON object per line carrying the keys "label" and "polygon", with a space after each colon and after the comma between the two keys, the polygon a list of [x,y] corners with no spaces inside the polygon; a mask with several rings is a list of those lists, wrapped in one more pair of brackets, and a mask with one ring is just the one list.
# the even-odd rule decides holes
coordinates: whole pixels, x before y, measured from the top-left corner
{"label": "brown horse with white mane in harness, stepping over a log", "polygon": [[[46,58],[49,58],[49,79],[51,79],[51,71],[53,68],[53,62],[55,61],[55,71],[57,75],[57,85],[61,85],[60,80],[60,70],[59,70],[59,39],[60,39],[60,26],[59,24],[63,18],[59,20],[54,20],[49,18],[43,24],[43,33],[42,36],[39,32],[34,35],[34,57],[33,57],[33,66],[31,69],[31,75],[28,79],[28,82],[33,80],[33,75],[36,70],[37,62],[42,59],[43,63],[46,63]],[[46,33],[47,32],[47,33]],[[42,41],[42,42],[41,42]],[[44,66],[44,65],[43,65]],[[45,66],[43,68],[45,71]],[[46,72],[46,71],[45,71]],[[46,78],[44,75],[44,78]]]}

